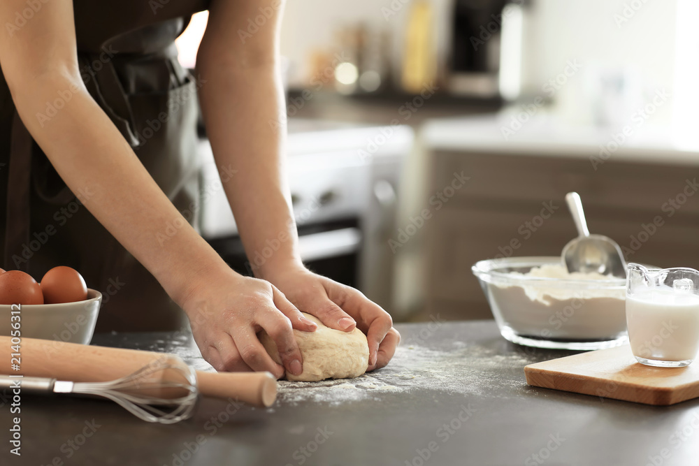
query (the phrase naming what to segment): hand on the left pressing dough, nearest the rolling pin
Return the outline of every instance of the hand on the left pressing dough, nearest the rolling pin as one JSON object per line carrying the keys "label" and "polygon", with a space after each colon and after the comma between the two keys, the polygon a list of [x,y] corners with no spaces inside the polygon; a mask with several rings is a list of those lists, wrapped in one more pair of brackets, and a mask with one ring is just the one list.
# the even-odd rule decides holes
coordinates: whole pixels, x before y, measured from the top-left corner
{"label": "hand on the left pressing dough, nearest the rolling pin", "polygon": [[[203,278],[187,291],[182,308],[206,361],[219,371],[266,370],[277,378],[284,369],[301,374],[303,359],[291,329],[310,332],[317,328],[315,323],[269,282],[231,269]],[[277,344],[284,367],[259,342],[257,333],[263,329]]]}

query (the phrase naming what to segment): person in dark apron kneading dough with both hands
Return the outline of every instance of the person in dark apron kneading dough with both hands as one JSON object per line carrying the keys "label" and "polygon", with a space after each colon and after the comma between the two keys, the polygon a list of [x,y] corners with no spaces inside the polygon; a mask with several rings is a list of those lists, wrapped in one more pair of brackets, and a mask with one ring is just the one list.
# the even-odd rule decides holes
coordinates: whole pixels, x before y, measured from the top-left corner
{"label": "person in dark apron kneading dough with both hands", "polygon": [[[26,2],[1,0],[0,24],[14,24]],[[101,332],[178,330],[189,319],[215,370],[304,380],[387,365],[401,340],[389,313],[309,270],[301,257],[285,170],[283,4],[163,1],[154,15],[143,0],[44,0],[31,21],[0,34],[0,167],[7,167],[0,170],[0,268],[34,277],[59,264],[78,270],[106,293]],[[175,39],[203,10],[196,66],[185,69]],[[260,11],[269,13],[265,23],[240,41],[238,31]],[[198,122],[249,259],[247,275],[199,234],[206,187]],[[38,233],[51,238],[30,251]],[[269,256],[272,241],[278,245]],[[260,330],[277,345],[277,362],[257,340]],[[349,336],[340,343],[339,333]],[[310,345],[308,367],[296,340]],[[337,356],[328,356],[334,347]]]}

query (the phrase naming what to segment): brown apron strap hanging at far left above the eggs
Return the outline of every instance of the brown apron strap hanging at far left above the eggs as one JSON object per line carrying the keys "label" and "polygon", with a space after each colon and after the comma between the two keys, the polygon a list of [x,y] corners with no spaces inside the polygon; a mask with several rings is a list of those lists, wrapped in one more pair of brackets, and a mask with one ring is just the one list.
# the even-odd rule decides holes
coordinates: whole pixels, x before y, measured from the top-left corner
{"label": "brown apron strap hanging at far left above the eggs", "polygon": [[15,110],[8,168],[5,266],[13,266],[24,272],[29,270],[27,261],[17,263],[13,261],[13,256],[22,257],[22,247],[29,245],[31,145],[31,135]]}

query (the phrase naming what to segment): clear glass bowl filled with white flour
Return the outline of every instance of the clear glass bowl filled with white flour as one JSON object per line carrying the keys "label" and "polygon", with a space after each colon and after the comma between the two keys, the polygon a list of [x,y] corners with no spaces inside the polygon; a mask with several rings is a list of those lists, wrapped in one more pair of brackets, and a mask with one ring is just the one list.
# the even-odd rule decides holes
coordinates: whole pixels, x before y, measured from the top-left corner
{"label": "clear glass bowl filled with white flour", "polygon": [[628,341],[626,280],[526,276],[560,256],[513,257],[473,265],[505,339],[529,347],[591,350]]}

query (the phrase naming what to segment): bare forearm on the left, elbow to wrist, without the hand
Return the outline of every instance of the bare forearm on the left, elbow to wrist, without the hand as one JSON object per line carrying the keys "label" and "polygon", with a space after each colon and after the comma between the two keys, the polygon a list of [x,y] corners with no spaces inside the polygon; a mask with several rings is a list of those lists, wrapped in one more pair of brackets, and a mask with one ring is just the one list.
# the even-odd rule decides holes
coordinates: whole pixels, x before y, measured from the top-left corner
{"label": "bare forearm on the left, elbow to wrist, without the hand", "polygon": [[[70,99],[57,115],[44,119],[39,114],[59,92]],[[64,182],[73,193],[82,193],[85,207],[175,301],[203,270],[225,265],[159,189],[82,82],[51,74],[13,89],[13,98]],[[169,236],[168,224],[182,228]]]}

